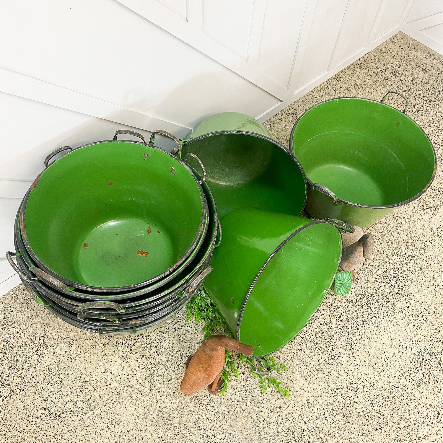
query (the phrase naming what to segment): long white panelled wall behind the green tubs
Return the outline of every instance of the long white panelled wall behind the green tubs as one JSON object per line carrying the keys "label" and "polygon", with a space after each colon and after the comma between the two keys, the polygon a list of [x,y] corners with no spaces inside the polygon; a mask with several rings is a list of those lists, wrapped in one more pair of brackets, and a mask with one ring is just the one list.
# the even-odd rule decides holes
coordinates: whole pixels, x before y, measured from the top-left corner
{"label": "long white panelled wall behind the green tubs", "polygon": [[0,0],[0,294],[18,283],[4,259],[17,207],[54,148],[122,127],[185,138],[222,111],[264,120],[407,14],[434,23],[440,2],[424,2]]}

